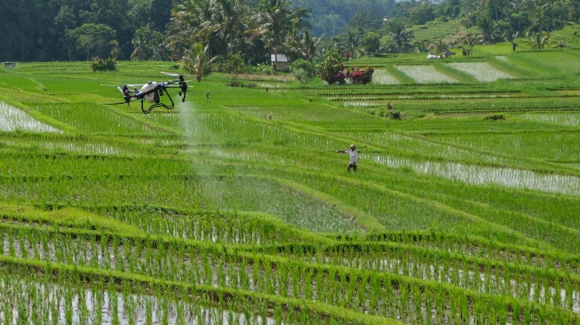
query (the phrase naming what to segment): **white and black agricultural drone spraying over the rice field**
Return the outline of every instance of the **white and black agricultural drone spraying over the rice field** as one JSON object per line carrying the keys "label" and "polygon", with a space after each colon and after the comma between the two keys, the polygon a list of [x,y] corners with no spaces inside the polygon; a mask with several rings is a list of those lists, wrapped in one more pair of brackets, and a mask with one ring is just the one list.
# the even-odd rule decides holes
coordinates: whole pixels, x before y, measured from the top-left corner
{"label": "white and black agricultural drone spraying over the rice field", "polygon": [[[165,107],[166,109],[171,109],[171,108],[175,107],[175,104],[173,104],[173,99],[171,99],[171,95],[169,94],[169,91],[167,91],[168,88],[179,88],[179,96],[181,96],[181,94],[183,94],[183,99],[181,99],[181,101],[185,102],[186,101],[186,94],[187,94],[187,83],[189,82],[189,80],[186,81],[184,79],[184,77],[194,76],[194,75],[170,74],[170,73],[163,72],[163,71],[161,73],[163,75],[171,75],[173,77],[177,77],[177,79],[171,80],[169,82],[161,82],[161,83],[148,82],[148,83],[145,83],[143,85],[125,84],[125,85],[123,85],[123,87],[116,86],[117,89],[119,91],[121,91],[121,93],[123,94],[124,101],[119,102],[119,103],[106,104],[106,105],[119,105],[119,104],[125,104],[125,103],[127,105],[129,105],[129,103],[131,103],[131,101],[140,100],[141,101],[141,110],[145,114],[149,114],[151,112],[151,110],[155,107]],[[137,87],[139,87],[139,86],[141,88],[138,91]],[[133,90],[131,90],[130,87],[133,88]],[[167,98],[171,101],[171,105],[167,105],[167,104],[161,102],[161,96],[163,96],[163,94],[167,95]],[[144,100],[152,102],[153,104],[151,104],[149,107],[146,108],[143,104]]]}

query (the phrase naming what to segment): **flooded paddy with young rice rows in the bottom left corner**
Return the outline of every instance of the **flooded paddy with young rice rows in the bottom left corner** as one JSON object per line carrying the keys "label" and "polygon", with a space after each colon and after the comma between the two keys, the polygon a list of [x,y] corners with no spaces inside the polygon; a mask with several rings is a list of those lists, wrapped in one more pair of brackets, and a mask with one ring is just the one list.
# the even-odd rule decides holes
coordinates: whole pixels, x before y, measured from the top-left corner
{"label": "flooded paddy with young rice rows in the bottom left corner", "polygon": [[[236,313],[195,301],[83,289],[47,282],[0,281],[3,324],[280,324],[271,317]],[[23,322],[25,321],[26,322]]]}

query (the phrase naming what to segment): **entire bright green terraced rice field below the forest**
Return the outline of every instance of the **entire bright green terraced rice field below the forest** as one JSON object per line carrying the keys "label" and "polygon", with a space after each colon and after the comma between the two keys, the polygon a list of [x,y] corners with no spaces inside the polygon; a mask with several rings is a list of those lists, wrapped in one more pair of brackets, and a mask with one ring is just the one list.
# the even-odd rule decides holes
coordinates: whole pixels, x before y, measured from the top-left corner
{"label": "entire bright green terraced rice field below the forest", "polygon": [[0,67],[0,323],[580,324],[580,49],[475,50],[150,114],[101,84],[174,63]]}

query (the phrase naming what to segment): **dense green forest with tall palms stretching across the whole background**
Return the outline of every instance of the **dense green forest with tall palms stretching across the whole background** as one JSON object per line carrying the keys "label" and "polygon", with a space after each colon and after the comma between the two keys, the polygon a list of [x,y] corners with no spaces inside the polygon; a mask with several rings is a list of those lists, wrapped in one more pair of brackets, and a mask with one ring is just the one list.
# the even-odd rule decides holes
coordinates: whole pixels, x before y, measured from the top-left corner
{"label": "dense green forest with tall palms stretching across the whole background", "polygon": [[[424,51],[412,25],[458,20],[480,43],[575,23],[580,0],[0,0],[0,59],[315,59]],[[534,34],[535,33],[535,34]],[[206,62],[209,59],[205,59]]]}

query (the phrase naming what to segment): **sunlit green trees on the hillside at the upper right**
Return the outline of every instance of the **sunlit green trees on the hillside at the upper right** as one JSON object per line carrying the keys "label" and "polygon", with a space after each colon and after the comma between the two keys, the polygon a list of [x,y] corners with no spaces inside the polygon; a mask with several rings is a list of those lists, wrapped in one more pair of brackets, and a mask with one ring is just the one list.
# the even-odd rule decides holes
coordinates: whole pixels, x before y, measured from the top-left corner
{"label": "sunlit green trees on the hillside at the upper right", "polygon": [[[457,20],[470,33],[447,44],[439,40],[416,40],[413,25]],[[518,37],[528,38],[532,49],[548,44],[550,32],[580,21],[580,0],[445,0],[432,4],[396,3],[388,15],[377,11],[357,12],[336,36],[327,37],[318,48],[338,51],[348,57],[397,52],[445,52],[449,46],[496,44]],[[471,32],[473,31],[473,32]],[[468,50],[467,50],[468,52]]]}

